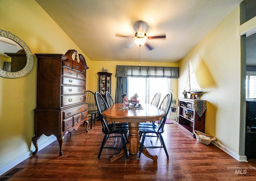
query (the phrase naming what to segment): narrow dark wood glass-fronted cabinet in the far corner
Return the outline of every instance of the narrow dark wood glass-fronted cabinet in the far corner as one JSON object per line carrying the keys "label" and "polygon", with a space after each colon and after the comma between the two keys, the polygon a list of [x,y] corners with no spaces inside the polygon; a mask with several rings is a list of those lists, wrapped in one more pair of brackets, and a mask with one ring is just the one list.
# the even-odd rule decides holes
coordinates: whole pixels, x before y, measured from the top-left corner
{"label": "narrow dark wood glass-fronted cabinet in the far corner", "polygon": [[106,91],[111,93],[111,75],[108,72],[98,72],[98,91],[106,98]]}

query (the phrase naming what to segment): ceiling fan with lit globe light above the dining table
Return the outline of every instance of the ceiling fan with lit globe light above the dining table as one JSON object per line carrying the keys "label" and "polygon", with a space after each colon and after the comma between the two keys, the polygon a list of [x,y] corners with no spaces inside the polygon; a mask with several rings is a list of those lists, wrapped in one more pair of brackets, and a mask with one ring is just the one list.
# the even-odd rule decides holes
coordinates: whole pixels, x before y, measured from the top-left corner
{"label": "ceiling fan with lit globe light above the dining table", "polygon": [[128,37],[128,38],[135,39],[134,42],[127,45],[126,48],[131,48],[136,44],[139,47],[141,47],[142,45],[145,45],[148,48],[148,50],[152,50],[154,48],[147,43],[148,39],[154,39],[154,38],[164,38],[165,39],[166,38],[165,33],[162,35],[158,35],[158,36],[147,36],[146,31],[148,30],[148,24],[146,24],[146,22],[143,22],[143,21],[136,21],[134,23],[134,30],[136,31],[134,36],[120,35],[120,34],[116,33],[116,36],[118,36],[118,37]]}

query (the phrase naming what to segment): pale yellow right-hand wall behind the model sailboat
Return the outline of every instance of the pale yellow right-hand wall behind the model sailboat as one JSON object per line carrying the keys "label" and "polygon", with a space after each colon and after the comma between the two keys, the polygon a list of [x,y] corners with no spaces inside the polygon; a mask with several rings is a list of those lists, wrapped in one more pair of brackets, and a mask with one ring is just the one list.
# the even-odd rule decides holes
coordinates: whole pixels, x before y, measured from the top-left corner
{"label": "pale yellow right-hand wall behind the model sailboat", "polygon": [[[201,99],[207,100],[207,134],[216,136],[216,144],[224,150],[240,153],[240,116],[245,119],[245,97],[241,97],[241,50],[238,26],[240,25],[239,6],[231,12],[211,33],[209,33],[179,63],[180,79],[178,96],[182,96],[186,80],[188,59],[191,59],[200,87],[204,93]],[[241,102],[241,100],[244,100]],[[242,106],[241,106],[242,105]],[[243,140],[241,140],[241,143]],[[244,145],[241,145],[243,147]],[[238,158],[236,158],[238,159]]]}

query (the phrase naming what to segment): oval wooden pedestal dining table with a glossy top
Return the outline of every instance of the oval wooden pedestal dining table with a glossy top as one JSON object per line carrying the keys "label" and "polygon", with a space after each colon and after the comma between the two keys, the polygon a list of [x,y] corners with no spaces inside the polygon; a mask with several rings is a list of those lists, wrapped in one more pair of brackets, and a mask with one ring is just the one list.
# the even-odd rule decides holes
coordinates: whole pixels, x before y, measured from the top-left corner
{"label": "oval wooden pedestal dining table with a glossy top", "polygon": [[[164,112],[151,104],[141,104],[141,106],[142,109],[123,109],[124,103],[117,103],[102,113],[104,118],[110,122],[128,122],[129,134],[126,148],[130,155],[136,155],[140,150],[140,122],[161,120],[165,115]],[[157,160],[157,155],[149,153],[146,148],[143,148],[142,153],[154,161]],[[121,150],[117,155],[110,157],[110,162],[119,159],[123,155],[124,150]]]}

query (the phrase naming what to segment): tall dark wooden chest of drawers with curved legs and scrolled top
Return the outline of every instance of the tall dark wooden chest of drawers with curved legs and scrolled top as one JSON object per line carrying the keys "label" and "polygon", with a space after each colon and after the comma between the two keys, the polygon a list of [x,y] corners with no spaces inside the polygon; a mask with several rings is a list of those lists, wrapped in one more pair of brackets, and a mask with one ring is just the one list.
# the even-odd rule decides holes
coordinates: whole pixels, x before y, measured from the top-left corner
{"label": "tall dark wooden chest of drawers with curved legs and scrolled top", "polygon": [[37,140],[54,135],[60,145],[60,155],[66,132],[78,130],[86,122],[87,107],[86,61],[76,50],[63,54],[35,54],[38,58],[37,108],[35,111],[35,136],[32,142],[38,151]]}

